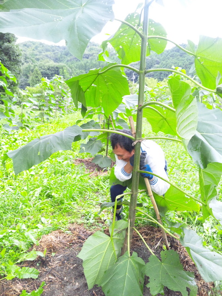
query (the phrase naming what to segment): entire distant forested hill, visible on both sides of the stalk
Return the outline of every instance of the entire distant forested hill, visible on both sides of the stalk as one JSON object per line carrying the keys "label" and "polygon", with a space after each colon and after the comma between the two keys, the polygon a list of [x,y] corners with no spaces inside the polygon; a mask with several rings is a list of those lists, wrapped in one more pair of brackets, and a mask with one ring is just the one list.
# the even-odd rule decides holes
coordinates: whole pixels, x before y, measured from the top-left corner
{"label": "entire distant forested hill, visible on both sides of the stalk", "polygon": [[[183,47],[186,45],[183,44]],[[26,41],[19,43],[22,50],[23,66],[20,76],[20,87],[25,88],[30,85],[32,75],[36,68],[40,71],[42,77],[51,79],[55,74],[62,75],[68,79],[70,77],[88,73],[90,69],[106,66],[106,62],[98,61],[98,54],[101,52],[99,44],[90,42],[83,55],[82,61],[76,59],[66,48],[66,46],[48,45],[38,41]],[[113,56],[112,56],[113,58]],[[118,58],[114,58],[118,63]],[[151,53],[147,57],[147,69],[150,68],[172,68],[181,67],[189,73],[194,63],[192,56],[187,55],[178,47],[165,50],[161,54]],[[133,63],[133,67],[139,69],[139,62]],[[133,72],[125,70],[129,80],[133,80]],[[134,81],[138,80],[138,75],[134,74]],[[148,77],[163,80],[169,75],[168,72],[153,72],[147,74]]]}

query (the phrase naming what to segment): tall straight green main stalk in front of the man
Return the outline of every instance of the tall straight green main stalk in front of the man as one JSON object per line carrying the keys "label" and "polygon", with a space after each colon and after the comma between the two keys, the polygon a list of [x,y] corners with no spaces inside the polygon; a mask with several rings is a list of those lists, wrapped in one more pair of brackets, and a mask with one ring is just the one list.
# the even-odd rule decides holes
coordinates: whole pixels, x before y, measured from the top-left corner
{"label": "tall straight green main stalk in front of the man", "polygon": [[[144,104],[144,91],[145,91],[145,74],[146,74],[146,56],[147,56],[147,41],[148,41],[148,9],[152,1],[148,2],[145,0],[144,7],[144,22],[143,22],[143,35],[141,36],[141,59],[140,59],[140,72],[139,72],[139,95],[138,95],[138,110],[137,110],[137,123],[136,123],[136,137],[135,140],[141,140],[142,138],[142,121],[143,121],[143,110],[140,107]],[[133,227],[135,224],[136,217],[136,206],[137,206],[137,196],[139,188],[139,176],[140,173],[137,171],[140,169],[140,147],[141,142],[136,142],[135,145],[135,158],[133,167],[133,177],[132,177],[132,195],[130,198],[129,207],[129,242],[131,242],[133,237]],[[125,238],[124,246],[122,249],[122,254],[127,251],[128,246],[127,235]]]}

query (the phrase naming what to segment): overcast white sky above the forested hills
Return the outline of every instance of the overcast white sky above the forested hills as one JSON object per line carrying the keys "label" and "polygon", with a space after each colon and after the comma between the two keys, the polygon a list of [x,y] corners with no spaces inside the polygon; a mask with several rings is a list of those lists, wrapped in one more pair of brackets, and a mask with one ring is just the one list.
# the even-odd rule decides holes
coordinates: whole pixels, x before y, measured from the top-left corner
{"label": "overcast white sky above the forested hills", "polygon": [[[115,0],[115,18],[122,19],[134,12],[143,0]],[[222,0],[162,0],[164,6],[151,4],[149,17],[165,28],[168,38],[181,44],[190,39],[198,43],[199,36],[222,37]],[[101,43],[107,34],[113,34],[120,23],[109,22],[92,41]],[[20,39],[22,41],[25,39]],[[64,42],[60,42],[64,44]]]}

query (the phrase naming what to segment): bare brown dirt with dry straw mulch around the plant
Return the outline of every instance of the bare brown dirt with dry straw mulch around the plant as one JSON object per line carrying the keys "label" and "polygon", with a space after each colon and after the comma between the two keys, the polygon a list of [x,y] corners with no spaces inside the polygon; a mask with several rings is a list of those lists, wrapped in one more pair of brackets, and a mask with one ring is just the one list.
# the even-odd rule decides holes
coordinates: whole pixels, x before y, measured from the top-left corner
{"label": "bare brown dirt with dry straw mulch around the plant", "polygon": [[[92,176],[106,174],[104,170],[92,163],[91,160],[77,159],[74,163],[76,165],[84,165]],[[138,230],[143,235],[153,253],[160,258],[160,252],[163,250],[160,229],[152,226],[144,226]],[[108,229],[105,230],[105,233],[109,234]],[[45,282],[42,296],[104,296],[100,287],[94,287],[88,290],[83,273],[82,260],[76,257],[85,240],[92,234],[93,232],[86,230],[83,225],[71,224],[68,233],[57,230],[44,235],[39,241],[39,245],[34,245],[32,249],[41,252],[44,252],[46,249],[45,258],[38,257],[35,261],[26,261],[20,265],[21,267],[37,268],[39,270],[38,278],[15,278],[11,281],[2,280],[0,281],[0,296],[19,296],[23,290],[31,293],[37,290],[42,282]],[[168,241],[171,247],[179,253],[184,269],[194,272],[198,286],[198,296],[208,296],[213,283],[205,283],[203,281],[185,248],[177,240],[168,237]],[[136,232],[134,233],[131,247],[131,252],[133,251],[137,252],[138,256],[144,259],[145,262],[148,262],[150,253]],[[147,283],[148,277],[145,277],[143,295],[151,296],[149,289],[146,287]],[[166,288],[164,295],[181,296],[181,293]]]}

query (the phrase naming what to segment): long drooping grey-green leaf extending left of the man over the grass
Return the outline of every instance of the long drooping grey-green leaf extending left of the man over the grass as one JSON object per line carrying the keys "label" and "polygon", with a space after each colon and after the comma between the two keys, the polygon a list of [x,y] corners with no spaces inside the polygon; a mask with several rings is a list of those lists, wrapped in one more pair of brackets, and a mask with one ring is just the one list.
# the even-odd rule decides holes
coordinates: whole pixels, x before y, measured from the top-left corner
{"label": "long drooping grey-green leaf extending left of the man over the grass", "polygon": [[13,160],[15,174],[30,169],[56,151],[71,150],[74,137],[79,135],[81,130],[79,126],[73,125],[64,131],[39,137],[21,148],[7,152]]}

